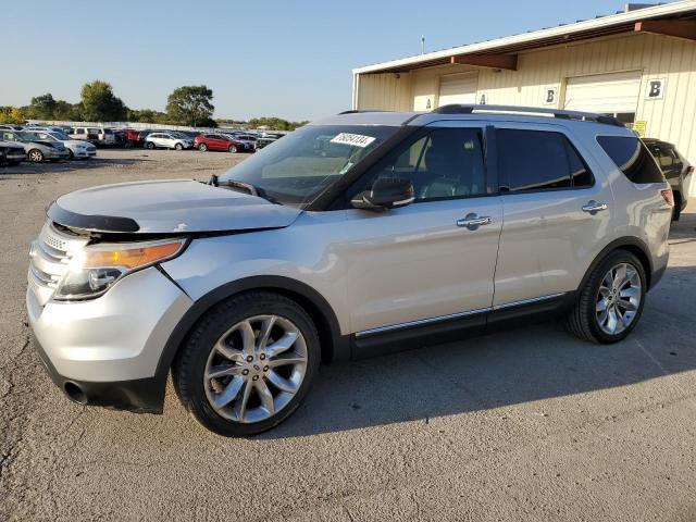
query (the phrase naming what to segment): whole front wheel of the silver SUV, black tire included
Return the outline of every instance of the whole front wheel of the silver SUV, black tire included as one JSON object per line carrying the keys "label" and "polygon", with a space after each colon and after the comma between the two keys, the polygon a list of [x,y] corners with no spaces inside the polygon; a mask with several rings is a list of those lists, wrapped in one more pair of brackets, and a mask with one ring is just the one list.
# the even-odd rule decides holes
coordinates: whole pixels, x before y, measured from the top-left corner
{"label": "whole front wheel of the silver SUV, black tire included", "polygon": [[276,426],[300,406],[319,362],[319,335],[307,312],[284,296],[251,291],[199,321],[172,373],[198,422],[245,437]]}

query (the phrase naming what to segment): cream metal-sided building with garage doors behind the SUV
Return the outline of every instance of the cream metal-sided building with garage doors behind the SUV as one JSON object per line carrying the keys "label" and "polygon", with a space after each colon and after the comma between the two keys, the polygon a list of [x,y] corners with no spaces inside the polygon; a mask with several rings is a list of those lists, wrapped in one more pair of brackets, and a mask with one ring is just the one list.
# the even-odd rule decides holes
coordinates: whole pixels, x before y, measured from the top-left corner
{"label": "cream metal-sided building with garage doors behind the SUV", "polygon": [[472,102],[611,113],[696,164],[696,0],[353,71],[353,109]]}

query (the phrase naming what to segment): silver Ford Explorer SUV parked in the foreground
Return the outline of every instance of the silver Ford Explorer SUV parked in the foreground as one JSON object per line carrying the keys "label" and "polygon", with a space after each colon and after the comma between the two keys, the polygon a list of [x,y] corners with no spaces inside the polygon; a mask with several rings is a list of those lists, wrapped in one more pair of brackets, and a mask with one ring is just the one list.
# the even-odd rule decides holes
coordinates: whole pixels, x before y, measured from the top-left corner
{"label": "silver Ford Explorer SUV parked in the foreground", "polygon": [[161,412],[171,372],[203,425],[252,435],[297,409],[320,362],[530,318],[623,339],[664,272],[672,206],[611,117],[349,112],[208,184],[62,196],[26,304],[72,399]]}

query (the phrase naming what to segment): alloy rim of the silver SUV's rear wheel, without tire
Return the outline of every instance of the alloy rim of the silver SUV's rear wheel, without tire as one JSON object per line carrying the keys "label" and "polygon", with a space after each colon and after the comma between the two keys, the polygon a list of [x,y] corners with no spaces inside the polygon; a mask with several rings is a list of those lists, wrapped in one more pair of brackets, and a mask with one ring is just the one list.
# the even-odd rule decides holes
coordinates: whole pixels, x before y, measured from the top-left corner
{"label": "alloy rim of the silver SUV's rear wheel, without tire", "polygon": [[643,299],[641,276],[629,263],[609,269],[597,291],[597,324],[609,335],[618,335],[635,320]]}

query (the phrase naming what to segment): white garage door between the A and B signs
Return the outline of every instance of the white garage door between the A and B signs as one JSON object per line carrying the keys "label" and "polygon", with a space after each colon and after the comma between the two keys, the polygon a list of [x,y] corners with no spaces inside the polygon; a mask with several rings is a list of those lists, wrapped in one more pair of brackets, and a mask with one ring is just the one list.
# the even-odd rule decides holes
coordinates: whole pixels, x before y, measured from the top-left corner
{"label": "white garage door between the A and B signs", "polygon": [[633,123],[639,92],[639,71],[568,78],[566,109],[613,114]]}

